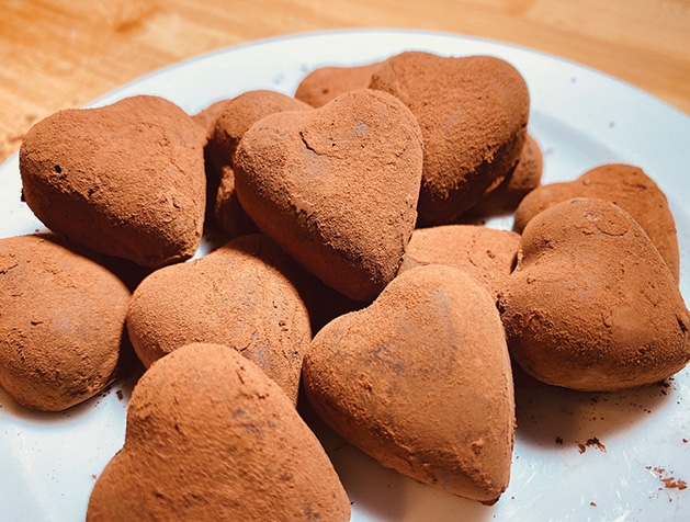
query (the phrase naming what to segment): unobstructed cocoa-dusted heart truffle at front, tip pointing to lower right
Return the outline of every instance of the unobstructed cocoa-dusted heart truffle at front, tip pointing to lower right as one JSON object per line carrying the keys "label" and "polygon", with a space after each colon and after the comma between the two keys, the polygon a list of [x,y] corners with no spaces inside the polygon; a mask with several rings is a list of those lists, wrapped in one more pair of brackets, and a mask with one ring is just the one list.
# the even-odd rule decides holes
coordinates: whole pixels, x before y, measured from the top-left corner
{"label": "unobstructed cocoa-dusted heart truffle at front, tip pointing to lower right", "polygon": [[510,359],[494,300],[465,272],[418,266],[316,334],[306,396],[382,465],[493,503],[514,433]]}

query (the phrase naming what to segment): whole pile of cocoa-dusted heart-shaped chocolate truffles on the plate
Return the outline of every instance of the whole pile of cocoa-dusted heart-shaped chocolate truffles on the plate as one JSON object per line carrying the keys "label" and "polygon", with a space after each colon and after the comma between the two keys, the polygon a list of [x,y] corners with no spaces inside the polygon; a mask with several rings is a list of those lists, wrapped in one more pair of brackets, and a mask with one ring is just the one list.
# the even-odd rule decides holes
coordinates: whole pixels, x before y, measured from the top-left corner
{"label": "whole pile of cocoa-dusted heart-shaped chocolate truffles on the plate", "polygon": [[[529,110],[501,59],[405,52],[317,69],[294,98],[37,123],[22,197],[53,234],[0,240],[0,385],[56,411],[127,350],[146,368],[88,520],[349,520],[302,393],[382,465],[490,504],[511,360],[579,390],[681,370],[665,195],[625,164],[541,185]],[[513,230],[476,224],[512,212]],[[224,245],[191,260],[203,230]]]}

